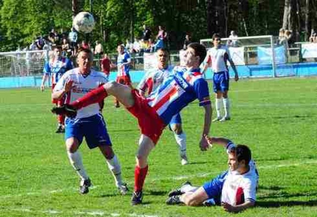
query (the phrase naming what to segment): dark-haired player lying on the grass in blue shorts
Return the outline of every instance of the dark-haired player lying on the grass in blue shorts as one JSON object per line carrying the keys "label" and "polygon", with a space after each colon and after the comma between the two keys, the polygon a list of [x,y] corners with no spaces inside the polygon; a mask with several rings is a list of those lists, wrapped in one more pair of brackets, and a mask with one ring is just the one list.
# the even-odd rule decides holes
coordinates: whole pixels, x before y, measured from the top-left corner
{"label": "dark-haired player lying on the grass in blue shorts", "polygon": [[229,169],[201,187],[185,182],[171,191],[166,203],[187,206],[221,205],[225,211],[239,212],[253,207],[259,174],[246,145],[235,145],[225,138],[206,137],[210,145],[223,145],[228,153]]}

